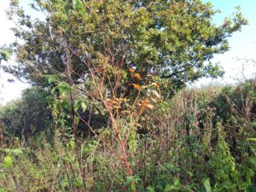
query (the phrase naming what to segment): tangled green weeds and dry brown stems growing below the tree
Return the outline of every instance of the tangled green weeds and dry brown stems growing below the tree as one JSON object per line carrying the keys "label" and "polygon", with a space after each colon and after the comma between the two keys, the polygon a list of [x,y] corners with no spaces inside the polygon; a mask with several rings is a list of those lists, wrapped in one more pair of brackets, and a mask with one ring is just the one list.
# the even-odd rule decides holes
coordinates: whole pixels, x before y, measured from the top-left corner
{"label": "tangled green weeds and dry brown stems growing below the tree", "polygon": [[6,108],[20,102],[9,104],[0,117],[1,189],[254,191],[255,143],[249,138],[256,137],[255,85],[250,81],[221,91],[182,90],[154,111],[145,111],[134,137],[125,143],[133,177],[119,159],[119,143],[109,128],[96,130],[97,136],[84,133],[76,144],[73,134],[52,127],[51,143],[47,134],[31,132],[22,144],[6,123]]}

